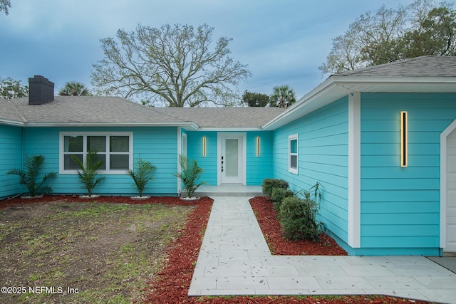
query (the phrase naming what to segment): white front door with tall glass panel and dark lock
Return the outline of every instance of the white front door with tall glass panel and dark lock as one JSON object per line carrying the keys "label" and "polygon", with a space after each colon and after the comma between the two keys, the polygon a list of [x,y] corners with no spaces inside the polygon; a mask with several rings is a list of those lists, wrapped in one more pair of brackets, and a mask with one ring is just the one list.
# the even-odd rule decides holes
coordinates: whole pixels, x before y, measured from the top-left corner
{"label": "white front door with tall glass panel and dark lock", "polygon": [[244,133],[219,133],[217,184],[245,184],[244,142]]}

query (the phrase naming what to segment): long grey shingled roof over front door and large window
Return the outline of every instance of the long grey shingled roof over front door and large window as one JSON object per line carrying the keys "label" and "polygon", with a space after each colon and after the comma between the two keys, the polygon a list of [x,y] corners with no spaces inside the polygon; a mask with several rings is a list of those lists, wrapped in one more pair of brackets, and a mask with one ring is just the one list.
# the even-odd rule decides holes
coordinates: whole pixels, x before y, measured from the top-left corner
{"label": "long grey shingled roof over front door and large window", "polygon": [[0,100],[0,120],[25,125],[178,125],[260,128],[281,108],[150,108],[130,100],[98,96],[56,96],[42,105],[28,98]]}

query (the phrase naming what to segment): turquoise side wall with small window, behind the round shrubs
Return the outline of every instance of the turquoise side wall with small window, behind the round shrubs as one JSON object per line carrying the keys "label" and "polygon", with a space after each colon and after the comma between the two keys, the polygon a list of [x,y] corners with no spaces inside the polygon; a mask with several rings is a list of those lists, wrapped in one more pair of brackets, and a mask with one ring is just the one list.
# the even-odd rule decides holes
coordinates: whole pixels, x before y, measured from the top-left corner
{"label": "turquoise side wall with small window, behind the round shrubs", "polygon": [[[288,137],[299,135],[299,174],[288,172]],[[274,178],[294,191],[323,185],[320,220],[332,234],[348,238],[348,98],[311,112],[274,131]]]}

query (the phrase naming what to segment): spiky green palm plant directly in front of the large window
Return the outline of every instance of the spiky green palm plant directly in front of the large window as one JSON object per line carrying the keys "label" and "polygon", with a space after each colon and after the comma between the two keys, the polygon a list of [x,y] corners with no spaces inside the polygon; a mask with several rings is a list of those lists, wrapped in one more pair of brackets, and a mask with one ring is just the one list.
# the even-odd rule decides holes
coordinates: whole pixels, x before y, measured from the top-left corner
{"label": "spiky green palm plant directly in front of the large window", "polygon": [[101,182],[105,177],[97,177],[98,169],[103,164],[102,161],[95,161],[97,157],[97,152],[95,150],[90,150],[86,154],[86,162],[81,162],[81,159],[71,155],[76,164],[81,168],[81,171],[78,170],[78,177],[81,183],[86,187],[88,196],[92,196],[93,189],[95,186]]}

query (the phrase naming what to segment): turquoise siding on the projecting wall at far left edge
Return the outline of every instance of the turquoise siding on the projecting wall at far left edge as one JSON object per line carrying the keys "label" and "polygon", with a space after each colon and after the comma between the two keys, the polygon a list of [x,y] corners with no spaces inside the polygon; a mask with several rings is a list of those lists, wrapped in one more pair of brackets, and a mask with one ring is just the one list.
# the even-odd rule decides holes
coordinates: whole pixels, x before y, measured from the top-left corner
{"label": "turquoise siding on the projecting wall at far left edge", "polygon": [[22,168],[22,128],[0,125],[0,199],[22,192],[19,177],[7,174]]}

